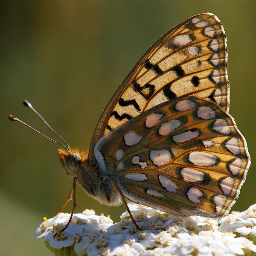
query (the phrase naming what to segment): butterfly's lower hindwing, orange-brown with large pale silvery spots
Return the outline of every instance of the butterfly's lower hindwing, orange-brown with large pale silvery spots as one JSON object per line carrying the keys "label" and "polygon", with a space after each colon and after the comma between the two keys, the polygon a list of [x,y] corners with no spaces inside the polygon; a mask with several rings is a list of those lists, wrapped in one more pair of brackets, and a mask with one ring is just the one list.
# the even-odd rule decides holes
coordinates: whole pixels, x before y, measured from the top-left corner
{"label": "butterfly's lower hindwing, orange-brown with large pale silvery spots", "polygon": [[102,137],[94,153],[128,200],[212,218],[234,204],[250,162],[233,118],[196,97],[145,111]]}

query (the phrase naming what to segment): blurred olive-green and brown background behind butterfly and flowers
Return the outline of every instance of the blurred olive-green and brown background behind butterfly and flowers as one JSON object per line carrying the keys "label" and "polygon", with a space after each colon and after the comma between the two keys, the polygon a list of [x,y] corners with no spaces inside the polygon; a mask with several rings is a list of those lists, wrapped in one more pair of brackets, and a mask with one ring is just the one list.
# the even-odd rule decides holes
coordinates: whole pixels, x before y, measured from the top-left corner
{"label": "blurred olive-green and brown background behind butterfly and flowers", "polygon": [[[228,38],[230,113],[252,159],[233,210],[256,203],[256,1],[253,0],[6,0],[0,3],[0,250],[1,255],[49,255],[32,234],[70,192],[59,145],[19,123],[13,114],[54,138],[32,105],[72,147],[89,147],[102,110],[116,88],[161,35],[193,15],[212,12]],[[77,186],[82,210],[110,214]],[[70,212],[72,203],[64,212]]]}

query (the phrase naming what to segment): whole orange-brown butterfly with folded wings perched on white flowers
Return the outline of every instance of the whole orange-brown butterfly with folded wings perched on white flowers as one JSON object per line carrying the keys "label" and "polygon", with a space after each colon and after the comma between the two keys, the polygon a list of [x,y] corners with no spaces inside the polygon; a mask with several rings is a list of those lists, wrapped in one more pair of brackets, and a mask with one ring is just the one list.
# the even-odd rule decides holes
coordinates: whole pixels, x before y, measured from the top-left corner
{"label": "whole orange-brown butterfly with folded wings perched on white flowers", "polygon": [[228,113],[229,89],[220,20],[205,13],[178,24],[116,90],[90,148],[59,150],[73,191],[78,182],[110,206],[123,201],[128,209],[131,201],[175,215],[226,215],[250,165]]}

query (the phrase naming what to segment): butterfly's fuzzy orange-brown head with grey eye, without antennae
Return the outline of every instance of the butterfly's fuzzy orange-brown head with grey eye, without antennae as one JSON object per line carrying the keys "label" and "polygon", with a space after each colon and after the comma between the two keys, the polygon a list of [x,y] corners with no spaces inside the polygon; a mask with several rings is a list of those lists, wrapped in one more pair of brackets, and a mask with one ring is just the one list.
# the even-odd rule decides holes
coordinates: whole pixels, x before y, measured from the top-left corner
{"label": "butterfly's fuzzy orange-brown head with grey eye, without antennae", "polygon": [[60,164],[62,169],[69,176],[77,176],[82,163],[89,163],[88,150],[80,152],[79,148],[69,148],[69,150],[59,149]]}

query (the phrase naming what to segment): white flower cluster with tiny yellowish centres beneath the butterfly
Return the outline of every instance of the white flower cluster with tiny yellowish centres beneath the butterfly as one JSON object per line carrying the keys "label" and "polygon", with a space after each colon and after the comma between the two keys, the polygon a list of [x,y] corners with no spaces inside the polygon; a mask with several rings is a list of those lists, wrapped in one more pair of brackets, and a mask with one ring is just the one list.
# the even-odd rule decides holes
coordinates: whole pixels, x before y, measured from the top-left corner
{"label": "white flower cluster with tiny yellowish centres beneath the butterfly", "polygon": [[127,212],[113,224],[111,218],[85,210],[74,214],[62,233],[59,231],[70,214],[45,218],[34,237],[44,237],[47,248],[63,256],[233,256],[256,252],[256,245],[250,241],[256,236],[256,205],[225,217],[220,227],[212,219],[170,215],[141,205],[131,205],[130,210],[142,231],[131,219],[125,219]]}

